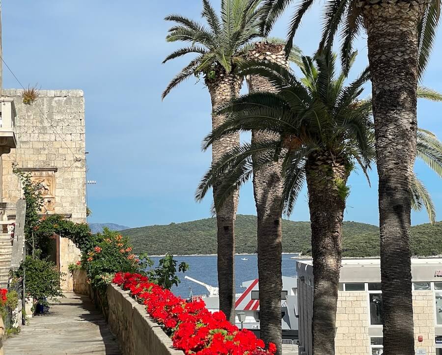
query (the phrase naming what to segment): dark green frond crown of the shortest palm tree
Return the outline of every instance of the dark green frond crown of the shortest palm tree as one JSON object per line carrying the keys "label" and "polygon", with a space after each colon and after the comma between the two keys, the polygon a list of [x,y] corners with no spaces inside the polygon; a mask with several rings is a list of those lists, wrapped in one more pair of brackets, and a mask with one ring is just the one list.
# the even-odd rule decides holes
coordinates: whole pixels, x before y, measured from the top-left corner
{"label": "dark green frond crown of the shortest palm tree", "polygon": [[[334,55],[303,56],[300,67],[304,74],[302,80],[290,69],[273,63],[254,62],[244,67],[244,75],[267,78],[279,93],[252,93],[229,104],[223,111],[230,112],[230,118],[206,137],[203,148],[238,131],[272,132],[280,138],[243,144],[226,153],[202,179],[196,191],[197,199],[223,174],[224,182],[215,200],[216,205],[222,204],[226,196],[249,179],[253,168],[282,159],[284,207],[290,214],[309,156],[343,158],[349,167],[359,162],[366,171],[373,158],[371,104],[357,100],[362,84],[368,80],[368,70],[345,86],[348,71],[335,74]],[[258,157],[255,166],[252,156]]]}

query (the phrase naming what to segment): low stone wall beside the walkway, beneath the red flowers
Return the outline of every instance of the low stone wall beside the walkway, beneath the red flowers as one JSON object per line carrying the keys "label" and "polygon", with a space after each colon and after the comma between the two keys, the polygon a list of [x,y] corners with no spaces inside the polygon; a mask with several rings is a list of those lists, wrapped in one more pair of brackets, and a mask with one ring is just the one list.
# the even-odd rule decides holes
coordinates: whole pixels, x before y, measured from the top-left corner
{"label": "low stone wall beside the walkway, beneath the red flowers", "polygon": [[163,329],[149,319],[144,307],[129,296],[129,291],[111,284],[107,290],[109,325],[123,355],[183,355],[172,349]]}

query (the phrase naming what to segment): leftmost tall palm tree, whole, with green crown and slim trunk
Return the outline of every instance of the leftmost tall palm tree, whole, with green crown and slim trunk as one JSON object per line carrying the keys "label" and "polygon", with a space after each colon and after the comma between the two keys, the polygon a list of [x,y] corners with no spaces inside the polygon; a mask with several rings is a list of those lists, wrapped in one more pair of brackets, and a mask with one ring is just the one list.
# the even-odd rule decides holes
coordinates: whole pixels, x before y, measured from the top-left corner
{"label": "leftmost tall palm tree, whole, with green crown and slim trunk", "polygon": [[[216,109],[239,95],[243,77],[238,75],[238,64],[253,46],[251,41],[259,37],[259,2],[221,0],[220,17],[209,0],[202,0],[202,17],[208,27],[180,15],[167,16],[167,21],[175,23],[169,29],[167,41],[189,42],[191,45],[173,52],[164,62],[190,53],[197,56],[172,79],[163,98],[189,77],[203,76],[212,101],[212,126],[215,129],[224,123],[226,116],[216,113]],[[238,145],[239,134],[217,141],[212,147],[213,162]],[[219,185],[213,186],[214,196],[218,190]],[[222,207],[216,209],[220,309],[232,323],[235,321],[234,225],[237,205],[238,193],[233,193]]]}

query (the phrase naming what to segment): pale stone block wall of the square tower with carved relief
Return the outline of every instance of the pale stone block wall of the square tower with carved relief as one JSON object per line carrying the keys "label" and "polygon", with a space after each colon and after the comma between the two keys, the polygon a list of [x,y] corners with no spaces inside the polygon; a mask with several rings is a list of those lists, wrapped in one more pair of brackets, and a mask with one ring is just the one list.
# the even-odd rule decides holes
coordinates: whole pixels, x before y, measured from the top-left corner
{"label": "pale stone block wall of the square tower with carved relief", "polygon": [[[14,98],[17,111],[17,148],[1,156],[1,197],[15,203],[21,196],[20,183],[12,174],[12,163],[32,173],[42,184],[45,208],[42,212],[86,220],[86,164],[84,98],[82,90],[40,90],[31,105],[25,105],[23,90],[4,89]],[[79,250],[68,239],[60,240],[60,270],[66,273],[63,289],[72,290],[68,265],[79,260]]]}

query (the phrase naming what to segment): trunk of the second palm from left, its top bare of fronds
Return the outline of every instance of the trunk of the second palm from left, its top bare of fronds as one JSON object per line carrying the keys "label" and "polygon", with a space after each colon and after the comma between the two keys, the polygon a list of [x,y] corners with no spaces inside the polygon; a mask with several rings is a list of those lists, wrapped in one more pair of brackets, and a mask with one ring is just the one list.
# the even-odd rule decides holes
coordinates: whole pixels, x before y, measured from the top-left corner
{"label": "trunk of the second palm from left, its top bare of fronds", "polygon": [[[283,49],[282,45],[260,42],[249,56],[255,60],[274,61],[288,66]],[[250,92],[276,92],[267,79],[257,75],[247,78],[247,83]],[[252,132],[251,140],[257,143],[276,138],[274,134]],[[266,344],[276,344],[276,355],[282,354],[282,191],[281,162],[266,165],[253,173],[253,193],[258,215],[260,338]]]}

